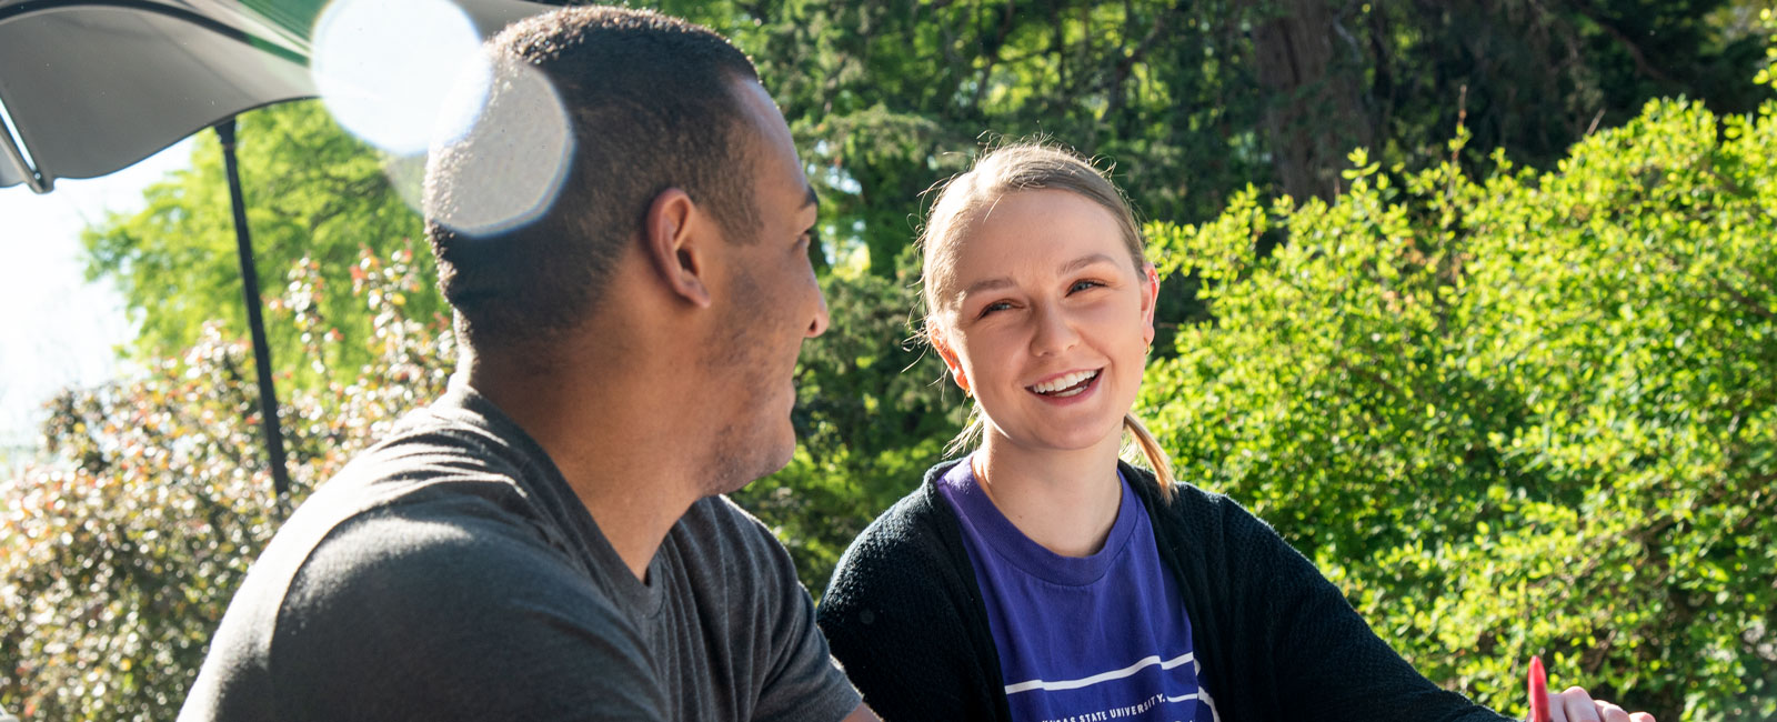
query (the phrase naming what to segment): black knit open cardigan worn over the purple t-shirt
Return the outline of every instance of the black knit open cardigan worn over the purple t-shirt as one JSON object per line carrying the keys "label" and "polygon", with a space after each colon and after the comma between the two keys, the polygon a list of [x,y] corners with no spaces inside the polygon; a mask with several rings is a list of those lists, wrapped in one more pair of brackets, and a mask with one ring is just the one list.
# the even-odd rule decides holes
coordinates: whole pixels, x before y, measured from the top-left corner
{"label": "black knit open cardigan worn over the purple t-shirt", "polygon": [[[839,560],[817,621],[883,720],[1011,720],[988,612],[938,478],[871,523]],[[1370,631],[1338,587],[1223,494],[1121,464],[1178,580],[1203,692],[1223,722],[1494,722]],[[1089,624],[1091,621],[1082,621]]]}

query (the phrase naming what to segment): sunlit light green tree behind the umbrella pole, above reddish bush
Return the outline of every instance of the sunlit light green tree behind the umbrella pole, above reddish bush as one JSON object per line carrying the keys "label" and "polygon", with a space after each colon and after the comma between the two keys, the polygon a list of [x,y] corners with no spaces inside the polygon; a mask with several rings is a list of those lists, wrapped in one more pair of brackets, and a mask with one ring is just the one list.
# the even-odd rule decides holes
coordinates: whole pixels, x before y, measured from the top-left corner
{"label": "sunlit light green tree behind the umbrella pole, above reddish bush", "polygon": [[[318,101],[243,114],[238,137],[259,288],[275,304],[284,295],[283,274],[299,258],[327,270],[311,302],[347,343],[327,347],[329,357],[309,357],[302,331],[267,324],[277,372],[322,384],[316,368],[355,370],[375,357],[366,347],[371,313],[352,297],[347,269],[364,247],[380,256],[421,238],[419,215],[389,185],[380,156],[339,130]],[[140,322],[135,354],[179,354],[211,322],[224,338],[245,336],[235,221],[215,135],[201,133],[192,167],[151,185],[146,199],[140,212],[110,215],[84,235],[87,276],[116,281]],[[416,263],[432,277],[430,254]],[[432,283],[407,292],[405,302],[419,318],[444,309]]]}

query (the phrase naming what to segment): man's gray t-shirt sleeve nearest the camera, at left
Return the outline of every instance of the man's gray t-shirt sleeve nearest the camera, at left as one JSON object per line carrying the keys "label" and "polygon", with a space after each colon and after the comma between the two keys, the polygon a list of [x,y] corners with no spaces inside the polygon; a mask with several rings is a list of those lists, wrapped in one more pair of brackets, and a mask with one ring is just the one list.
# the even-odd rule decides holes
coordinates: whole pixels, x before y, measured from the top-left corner
{"label": "man's gray t-shirt sleeve nearest the camera, at left", "polygon": [[641,635],[565,555],[494,516],[352,519],[277,615],[284,718],[657,720]]}

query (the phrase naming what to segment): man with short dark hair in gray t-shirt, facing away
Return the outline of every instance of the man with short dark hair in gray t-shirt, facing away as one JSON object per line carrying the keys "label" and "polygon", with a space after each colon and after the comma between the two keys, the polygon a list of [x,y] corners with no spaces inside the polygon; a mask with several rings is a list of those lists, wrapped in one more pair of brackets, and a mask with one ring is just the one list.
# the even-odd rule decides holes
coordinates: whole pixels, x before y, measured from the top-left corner
{"label": "man with short dark hair in gray t-shirt, facing away", "polygon": [[[179,717],[874,718],[789,555],[718,496],[789,461],[828,322],[784,117],[743,53],[654,12],[489,48],[487,107],[426,178],[451,391],[279,530]],[[570,128],[558,190],[482,222],[547,137],[538,96]]]}

